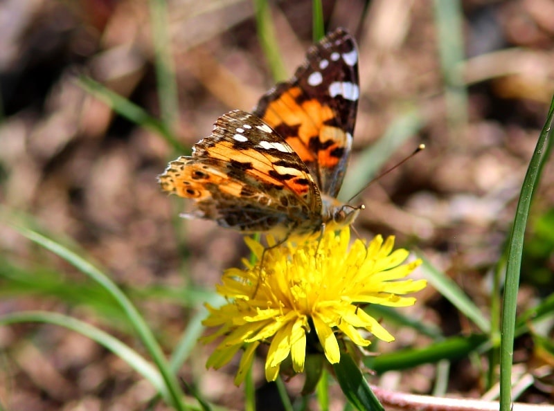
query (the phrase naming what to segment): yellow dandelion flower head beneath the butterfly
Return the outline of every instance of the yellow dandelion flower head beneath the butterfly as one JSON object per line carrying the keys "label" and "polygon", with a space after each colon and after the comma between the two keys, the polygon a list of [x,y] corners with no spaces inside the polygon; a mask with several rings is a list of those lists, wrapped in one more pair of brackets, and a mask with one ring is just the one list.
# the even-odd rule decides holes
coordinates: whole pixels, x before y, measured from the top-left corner
{"label": "yellow dandelion flower head beneath the butterfly", "polygon": [[244,261],[244,270],[225,271],[217,293],[228,302],[217,309],[208,306],[210,314],[204,320],[208,327],[219,327],[204,341],[224,336],[207,367],[222,367],[244,349],[237,385],[260,343],[269,344],[265,376],[274,381],[287,358],[294,372],[303,372],[307,348],[313,351],[314,341],[331,364],[338,363],[341,356],[337,336],[361,347],[370,344],[365,338],[367,331],[380,340],[393,341],[360,307],[412,305],[415,298],[402,295],[420,291],[427,284],[425,280],[401,280],[421,261],[402,264],[409,252],[393,250],[394,237],[383,241],[377,235],[368,245],[357,239],[349,246],[347,227],[339,233],[325,232],[321,239],[305,244],[269,248],[263,259],[263,246],[250,238],[246,242],[258,264]]}

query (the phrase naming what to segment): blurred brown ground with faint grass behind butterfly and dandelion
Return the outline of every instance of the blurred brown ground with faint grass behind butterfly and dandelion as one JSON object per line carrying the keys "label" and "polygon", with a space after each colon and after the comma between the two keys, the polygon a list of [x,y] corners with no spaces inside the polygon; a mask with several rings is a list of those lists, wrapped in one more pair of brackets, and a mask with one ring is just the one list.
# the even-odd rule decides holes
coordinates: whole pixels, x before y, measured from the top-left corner
{"label": "blurred brown ground with faint grass behind butterfly and dandelion", "polygon": [[[254,107],[274,79],[252,2],[168,1],[168,21],[158,31],[154,3],[0,2],[0,314],[66,313],[141,350],[111,300],[5,224],[17,219],[102,266],[171,352],[222,270],[240,266],[248,253],[235,232],[179,220],[185,201],[168,198],[156,177],[208,136],[222,113]],[[312,43],[312,2],[268,6],[288,77]],[[343,26],[359,44],[361,98],[341,197],[427,145],[352,202],[366,205],[355,227],[361,237],[395,235],[397,246],[418,248],[486,313],[490,276],[554,92],[554,2],[323,1],[323,17],[328,30]],[[170,40],[175,82],[156,70],[153,39],[160,35]],[[84,76],[161,118],[165,131],[116,113]],[[528,225],[522,309],[554,291],[550,169]],[[418,298],[402,313],[445,336],[472,331],[431,287]],[[425,345],[413,330],[392,332],[397,342],[379,351]],[[179,376],[209,401],[240,410],[243,392],[232,383],[237,364],[206,371],[212,348],[193,347]],[[517,360],[531,367],[530,340],[518,340],[516,349]],[[0,405],[7,410],[143,410],[155,394],[123,360],[53,325],[0,327],[0,353]],[[454,363],[448,391],[479,396],[478,374],[470,360]],[[267,401],[259,409],[279,410],[262,362],[254,375]],[[382,381],[397,390],[428,393],[435,367],[386,375]],[[287,384],[292,395],[300,381]],[[552,399],[552,381],[545,384],[528,396]],[[340,394],[334,401],[343,403]]]}

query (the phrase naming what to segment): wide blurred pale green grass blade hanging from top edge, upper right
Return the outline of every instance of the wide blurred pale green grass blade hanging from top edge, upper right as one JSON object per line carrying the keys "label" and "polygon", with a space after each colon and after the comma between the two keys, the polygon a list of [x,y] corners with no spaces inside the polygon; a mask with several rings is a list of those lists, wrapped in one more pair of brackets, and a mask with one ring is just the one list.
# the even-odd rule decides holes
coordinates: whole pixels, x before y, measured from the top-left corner
{"label": "wide blurred pale green grass blade hanging from top edge, upper right", "polygon": [[463,84],[463,11],[459,0],[435,0],[440,66],[445,81],[447,121],[453,138],[467,123],[467,90]]}

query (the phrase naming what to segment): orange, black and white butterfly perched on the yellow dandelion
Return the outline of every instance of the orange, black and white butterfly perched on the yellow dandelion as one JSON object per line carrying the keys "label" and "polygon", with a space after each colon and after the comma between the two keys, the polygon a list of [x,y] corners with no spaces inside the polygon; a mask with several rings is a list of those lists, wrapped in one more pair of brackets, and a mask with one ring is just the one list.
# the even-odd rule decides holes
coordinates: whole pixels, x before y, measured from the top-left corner
{"label": "orange, black and white butterfly perched on the yellow dandelion", "polygon": [[163,190],[193,200],[192,212],[181,216],[280,239],[352,223],[363,206],[337,195],[352,149],[357,62],[355,40],[338,28],[252,113],[218,118],[192,156],[171,161],[159,176]]}

